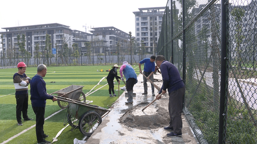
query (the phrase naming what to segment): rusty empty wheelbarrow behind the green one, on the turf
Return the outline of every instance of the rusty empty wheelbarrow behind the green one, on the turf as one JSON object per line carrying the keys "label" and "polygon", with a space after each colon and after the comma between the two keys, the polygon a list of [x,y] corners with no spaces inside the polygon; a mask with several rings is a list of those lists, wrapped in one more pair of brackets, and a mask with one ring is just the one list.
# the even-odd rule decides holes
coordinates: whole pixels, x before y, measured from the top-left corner
{"label": "rusty empty wheelbarrow behind the green one, on the turf", "polygon": [[[84,87],[84,85],[70,85],[59,91],[55,91],[55,92],[51,93],[50,95],[56,94],[59,97],[64,97],[64,98],[69,98],[69,99],[73,99],[73,100],[77,100],[77,101],[86,102],[86,96],[82,91],[83,87]],[[68,107],[68,102],[57,100],[57,103],[62,109],[65,109]]]}

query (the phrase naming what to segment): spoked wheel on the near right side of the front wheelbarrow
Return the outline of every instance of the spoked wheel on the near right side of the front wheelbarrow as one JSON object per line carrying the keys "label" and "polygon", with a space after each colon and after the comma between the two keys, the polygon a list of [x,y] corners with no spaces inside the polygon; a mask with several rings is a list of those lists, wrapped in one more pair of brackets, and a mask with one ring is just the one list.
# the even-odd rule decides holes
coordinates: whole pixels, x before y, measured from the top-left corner
{"label": "spoked wheel on the near right side of the front wheelbarrow", "polygon": [[95,111],[84,113],[79,120],[79,130],[85,136],[91,136],[102,123],[102,117]]}

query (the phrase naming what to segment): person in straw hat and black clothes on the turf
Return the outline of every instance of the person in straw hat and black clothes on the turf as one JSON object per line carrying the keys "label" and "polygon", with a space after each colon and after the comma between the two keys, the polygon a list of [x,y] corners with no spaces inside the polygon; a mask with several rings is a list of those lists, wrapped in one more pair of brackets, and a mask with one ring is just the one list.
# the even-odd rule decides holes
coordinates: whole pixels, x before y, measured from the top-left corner
{"label": "person in straw hat and black clothes on the turf", "polygon": [[[119,83],[119,77],[117,75],[117,69],[118,69],[118,65],[115,64],[114,66],[112,66],[112,69],[110,70],[108,76],[107,76],[107,82],[108,82],[108,85],[109,85],[109,94],[110,94],[110,97],[115,97],[116,94],[114,92],[114,84],[113,84],[113,80],[114,80],[114,77],[116,78],[117,82]],[[112,90],[112,92],[111,92]],[[113,96],[112,96],[112,93],[113,93]]]}

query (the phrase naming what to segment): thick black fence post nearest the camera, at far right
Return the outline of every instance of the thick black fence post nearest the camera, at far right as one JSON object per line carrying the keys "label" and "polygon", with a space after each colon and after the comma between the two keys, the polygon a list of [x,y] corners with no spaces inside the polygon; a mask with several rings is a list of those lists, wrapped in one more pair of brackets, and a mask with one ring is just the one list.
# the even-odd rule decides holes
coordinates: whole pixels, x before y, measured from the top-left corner
{"label": "thick black fence post nearest the camera, at far right", "polygon": [[221,61],[220,61],[220,115],[219,115],[219,137],[218,137],[218,144],[225,144],[226,143],[226,115],[227,109],[225,110],[225,102],[227,102],[227,95],[226,92],[226,50],[227,50],[227,21],[226,21],[226,7],[228,5],[227,0],[221,0]]}

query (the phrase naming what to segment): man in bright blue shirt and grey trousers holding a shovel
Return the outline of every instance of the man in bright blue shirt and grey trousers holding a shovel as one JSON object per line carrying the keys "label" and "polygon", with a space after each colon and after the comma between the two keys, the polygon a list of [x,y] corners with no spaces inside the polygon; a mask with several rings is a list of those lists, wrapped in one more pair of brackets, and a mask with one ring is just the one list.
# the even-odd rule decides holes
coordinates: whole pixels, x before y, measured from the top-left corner
{"label": "man in bright blue shirt and grey trousers holding a shovel", "polygon": [[[152,55],[150,58],[145,58],[138,63],[139,72],[147,76],[147,78],[149,78],[152,82],[153,82],[153,72],[155,71],[154,61],[155,61],[155,56]],[[144,63],[144,72],[142,73],[141,64],[143,63]],[[144,93],[142,93],[143,95],[147,94],[147,83],[146,83],[147,78],[145,78],[145,76],[143,76],[143,84],[144,84]],[[155,96],[154,86],[152,83],[151,83],[151,87],[152,87],[152,96]]]}

